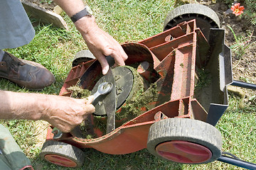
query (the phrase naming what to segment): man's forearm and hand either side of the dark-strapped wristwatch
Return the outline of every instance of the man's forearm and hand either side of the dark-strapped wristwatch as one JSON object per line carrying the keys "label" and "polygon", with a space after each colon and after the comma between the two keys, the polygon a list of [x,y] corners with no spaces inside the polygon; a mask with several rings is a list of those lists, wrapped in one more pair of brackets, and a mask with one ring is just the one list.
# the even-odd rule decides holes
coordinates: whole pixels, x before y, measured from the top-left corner
{"label": "man's forearm and hand either side of the dark-strapped wristwatch", "polygon": [[[69,17],[75,15],[85,8],[83,1],[81,0],[54,0]],[[115,65],[124,65],[124,61],[127,60],[127,55],[122,49],[121,45],[112,38],[109,34],[105,33],[95,23],[94,16],[84,16],[75,22],[75,27],[80,31],[82,38],[92,54],[99,60],[102,66],[102,74],[107,74],[110,68],[107,64],[106,56],[114,58]]]}

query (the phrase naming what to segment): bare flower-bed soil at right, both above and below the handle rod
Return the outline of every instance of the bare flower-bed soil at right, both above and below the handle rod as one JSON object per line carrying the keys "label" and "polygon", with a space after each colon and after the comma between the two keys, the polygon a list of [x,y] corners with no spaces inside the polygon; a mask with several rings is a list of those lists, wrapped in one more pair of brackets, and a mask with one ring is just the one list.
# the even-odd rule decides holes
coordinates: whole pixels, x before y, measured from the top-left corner
{"label": "bare flower-bed soil at right, both above and below the handle rod", "polygon": [[[216,4],[213,4],[211,0],[203,0],[200,1],[200,4],[212,8],[220,18],[220,28],[225,29],[225,45],[230,47],[232,51],[233,80],[256,84],[256,27],[252,26],[252,23],[247,21],[247,19],[245,19],[245,17],[242,15],[235,16],[233,13],[226,13],[230,6],[223,2],[217,1]],[[242,54],[242,56],[237,55],[232,48],[238,43],[235,41],[233,32],[230,30],[230,28],[228,28],[228,26],[233,28],[233,31],[238,39],[240,37],[246,38],[245,40],[239,41],[240,47],[244,45],[244,47],[247,48],[244,50],[244,54]],[[255,106],[255,91],[236,86],[229,87],[236,88],[236,91],[229,90],[229,92],[232,94],[236,95],[240,91],[245,93],[245,96],[241,98],[240,101],[242,102],[242,106]]]}

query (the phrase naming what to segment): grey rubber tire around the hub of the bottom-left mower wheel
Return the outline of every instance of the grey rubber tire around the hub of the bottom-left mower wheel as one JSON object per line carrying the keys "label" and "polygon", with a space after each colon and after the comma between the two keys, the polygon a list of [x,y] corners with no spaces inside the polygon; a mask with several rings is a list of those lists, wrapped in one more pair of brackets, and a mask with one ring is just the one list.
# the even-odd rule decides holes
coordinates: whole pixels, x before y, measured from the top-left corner
{"label": "grey rubber tire around the hub of the bottom-left mower wheel", "polygon": [[[47,154],[60,155],[62,157],[70,159],[77,164],[77,166],[73,168],[81,167],[83,162],[85,161],[85,154],[84,152],[82,152],[81,149],[79,149],[78,147],[74,147],[73,145],[54,140],[48,140],[43,144],[40,157],[48,161],[48,159],[46,159],[45,157]],[[50,163],[53,164],[53,162]]]}

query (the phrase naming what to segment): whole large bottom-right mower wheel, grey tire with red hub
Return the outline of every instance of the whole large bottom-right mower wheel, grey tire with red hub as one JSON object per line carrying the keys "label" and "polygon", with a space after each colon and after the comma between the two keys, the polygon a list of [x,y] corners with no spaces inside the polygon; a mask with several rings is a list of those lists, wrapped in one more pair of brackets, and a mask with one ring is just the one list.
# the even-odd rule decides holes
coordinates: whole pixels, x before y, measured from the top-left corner
{"label": "whole large bottom-right mower wheel, grey tire with red hub", "polygon": [[213,125],[188,118],[154,123],[147,141],[151,154],[182,164],[213,162],[220,157],[221,146],[221,134]]}

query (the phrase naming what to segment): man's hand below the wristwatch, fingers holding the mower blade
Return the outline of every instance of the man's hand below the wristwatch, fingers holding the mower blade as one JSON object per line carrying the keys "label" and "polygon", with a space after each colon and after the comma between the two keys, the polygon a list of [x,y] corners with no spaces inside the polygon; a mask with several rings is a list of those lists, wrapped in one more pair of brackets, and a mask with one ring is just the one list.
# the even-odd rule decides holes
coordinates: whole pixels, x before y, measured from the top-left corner
{"label": "man's hand below the wristwatch, fingers holding the mower blade", "polygon": [[116,66],[125,65],[124,61],[128,58],[127,54],[112,36],[97,26],[93,16],[81,18],[75,22],[75,26],[82,34],[82,38],[85,39],[90,52],[99,60],[102,66],[102,74],[107,74],[110,68],[105,58],[106,56],[113,57]]}

